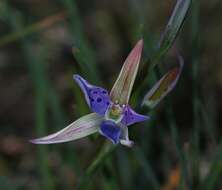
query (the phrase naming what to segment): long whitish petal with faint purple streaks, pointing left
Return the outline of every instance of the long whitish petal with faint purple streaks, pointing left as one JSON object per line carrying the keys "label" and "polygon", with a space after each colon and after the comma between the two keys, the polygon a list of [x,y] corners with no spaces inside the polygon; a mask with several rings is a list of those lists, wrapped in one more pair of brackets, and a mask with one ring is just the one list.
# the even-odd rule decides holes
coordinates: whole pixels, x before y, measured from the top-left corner
{"label": "long whitish petal with faint purple streaks, pointing left", "polygon": [[102,120],[102,116],[91,113],[79,118],[57,133],[30,140],[30,142],[34,144],[54,144],[80,139],[97,132]]}

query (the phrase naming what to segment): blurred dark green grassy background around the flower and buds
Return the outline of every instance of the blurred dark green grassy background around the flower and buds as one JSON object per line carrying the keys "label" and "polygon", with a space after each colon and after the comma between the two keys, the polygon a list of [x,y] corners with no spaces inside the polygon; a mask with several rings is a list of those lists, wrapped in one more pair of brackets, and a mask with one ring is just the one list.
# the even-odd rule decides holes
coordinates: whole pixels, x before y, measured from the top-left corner
{"label": "blurred dark green grassy background around the flower and buds", "polygon": [[[158,60],[159,68],[148,72],[147,90],[177,52],[184,57],[178,85],[149,112],[152,120],[130,127],[135,147],[118,146],[85,178],[103,137],[58,145],[28,142],[89,113],[72,75],[110,89],[141,37],[142,72],[175,4],[0,1],[0,189],[222,189],[220,0],[193,0],[174,45]],[[134,85],[134,106],[144,95],[136,91],[140,84]]]}

